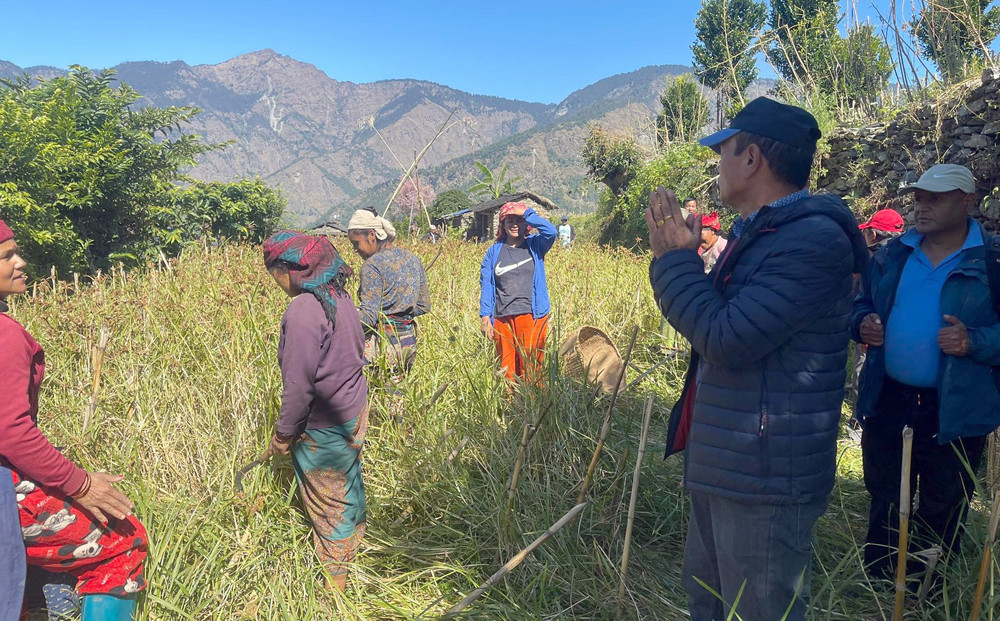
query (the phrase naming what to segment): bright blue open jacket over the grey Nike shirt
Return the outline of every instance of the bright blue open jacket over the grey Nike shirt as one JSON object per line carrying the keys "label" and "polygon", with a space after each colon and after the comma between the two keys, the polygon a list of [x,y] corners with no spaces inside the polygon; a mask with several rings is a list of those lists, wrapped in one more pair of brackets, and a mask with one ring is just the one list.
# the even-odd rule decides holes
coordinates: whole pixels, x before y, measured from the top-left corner
{"label": "bright blue open jacket over the grey Nike shirt", "polygon": [[[534,209],[524,212],[524,221],[538,231],[537,235],[529,235],[524,244],[535,261],[535,272],[531,280],[531,314],[540,319],[549,314],[549,287],[545,282],[545,253],[556,241],[554,224],[535,213]],[[483,264],[479,268],[479,316],[493,318],[496,308],[496,276],[494,270],[500,260],[500,248],[503,242],[496,242],[486,250]]]}

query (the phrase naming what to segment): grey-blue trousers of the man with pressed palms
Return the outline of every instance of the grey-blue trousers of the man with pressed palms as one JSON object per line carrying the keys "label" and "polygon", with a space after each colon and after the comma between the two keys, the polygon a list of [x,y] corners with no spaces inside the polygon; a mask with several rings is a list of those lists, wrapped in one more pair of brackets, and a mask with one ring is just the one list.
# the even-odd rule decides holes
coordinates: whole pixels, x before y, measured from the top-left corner
{"label": "grey-blue trousers of the man with pressed palms", "polygon": [[683,566],[691,621],[724,621],[734,603],[743,621],[805,619],[812,528],[826,505],[749,505],[691,492]]}

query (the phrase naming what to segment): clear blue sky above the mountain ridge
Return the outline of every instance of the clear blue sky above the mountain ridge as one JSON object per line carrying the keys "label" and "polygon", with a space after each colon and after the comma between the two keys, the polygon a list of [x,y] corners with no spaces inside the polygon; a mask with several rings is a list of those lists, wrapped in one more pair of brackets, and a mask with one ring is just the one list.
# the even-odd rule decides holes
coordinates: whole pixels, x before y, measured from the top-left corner
{"label": "clear blue sky above the mountain ridge", "polygon": [[[873,13],[871,0],[856,4],[862,16]],[[6,24],[0,59],[21,67],[63,68],[129,60],[214,64],[272,48],[337,80],[418,78],[553,103],[616,73],[689,65],[700,5],[698,0],[0,0]],[[765,67],[763,74],[770,71]]]}

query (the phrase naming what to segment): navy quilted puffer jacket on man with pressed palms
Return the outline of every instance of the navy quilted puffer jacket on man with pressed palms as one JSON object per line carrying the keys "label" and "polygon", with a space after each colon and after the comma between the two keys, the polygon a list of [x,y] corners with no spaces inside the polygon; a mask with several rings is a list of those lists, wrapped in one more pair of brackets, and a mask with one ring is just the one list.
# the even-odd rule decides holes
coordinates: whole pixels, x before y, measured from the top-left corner
{"label": "navy quilted puffer jacket on man with pressed palms", "polygon": [[762,208],[734,243],[708,276],[692,250],[650,267],[660,310],[694,349],[667,454],[687,449],[689,490],[754,504],[825,498],[864,238],[840,198],[820,195]]}

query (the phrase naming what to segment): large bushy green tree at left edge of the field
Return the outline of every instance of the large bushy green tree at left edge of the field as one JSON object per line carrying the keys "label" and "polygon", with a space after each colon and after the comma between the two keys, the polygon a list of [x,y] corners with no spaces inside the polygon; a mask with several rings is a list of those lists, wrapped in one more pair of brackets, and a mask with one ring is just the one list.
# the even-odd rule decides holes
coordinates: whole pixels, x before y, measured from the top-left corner
{"label": "large bushy green tree at left edge of the field", "polygon": [[260,240],[277,226],[284,199],[263,182],[184,174],[218,146],[180,132],[197,109],[133,106],[139,97],[83,67],[0,80],[0,218],[34,273],[135,265],[197,237]]}

